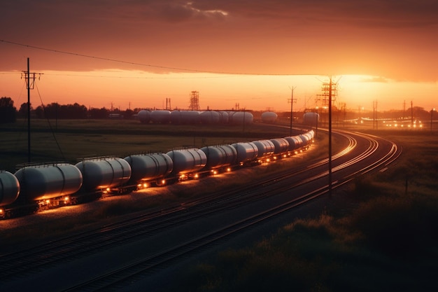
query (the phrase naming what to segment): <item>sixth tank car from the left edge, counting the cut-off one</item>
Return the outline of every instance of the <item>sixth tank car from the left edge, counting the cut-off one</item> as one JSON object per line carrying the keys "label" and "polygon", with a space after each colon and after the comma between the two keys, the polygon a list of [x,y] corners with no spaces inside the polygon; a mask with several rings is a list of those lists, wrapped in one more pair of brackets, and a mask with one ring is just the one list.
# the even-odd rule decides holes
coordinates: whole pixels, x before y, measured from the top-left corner
{"label": "sixth tank car from the left edge, counting the cut-off one", "polygon": [[207,157],[206,167],[216,169],[235,165],[237,151],[231,145],[206,146],[200,149]]}

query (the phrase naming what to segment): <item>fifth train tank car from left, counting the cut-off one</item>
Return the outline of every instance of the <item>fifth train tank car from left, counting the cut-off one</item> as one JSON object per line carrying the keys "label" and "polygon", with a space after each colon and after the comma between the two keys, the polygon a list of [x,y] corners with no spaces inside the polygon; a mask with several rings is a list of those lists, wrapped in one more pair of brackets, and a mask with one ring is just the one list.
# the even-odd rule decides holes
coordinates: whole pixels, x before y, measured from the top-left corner
{"label": "fifth train tank car from left, counting the cut-off one", "polygon": [[197,148],[173,150],[166,154],[174,161],[174,174],[197,172],[207,163],[207,156]]}

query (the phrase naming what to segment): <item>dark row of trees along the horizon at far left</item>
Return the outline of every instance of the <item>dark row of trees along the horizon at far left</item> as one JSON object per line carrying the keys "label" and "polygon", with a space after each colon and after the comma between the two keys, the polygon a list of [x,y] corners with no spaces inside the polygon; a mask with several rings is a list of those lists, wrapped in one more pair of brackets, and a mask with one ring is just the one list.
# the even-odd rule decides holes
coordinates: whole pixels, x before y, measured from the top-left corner
{"label": "dark row of trees along the horizon at far left", "polygon": [[[45,106],[37,106],[35,109],[30,106],[31,118],[50,118],[50,119],[104,119],[104,118],[125,118],[130,119],[140,109],[120,109],[106,108],[89,108],[83,104],[58,104],[53,102]],[[27,118],[28,106],[27,102],[21,104],[20,109],[14,106],[14,102],[10,97],[0,98],[0,123],[15,123],[17,118]]]}

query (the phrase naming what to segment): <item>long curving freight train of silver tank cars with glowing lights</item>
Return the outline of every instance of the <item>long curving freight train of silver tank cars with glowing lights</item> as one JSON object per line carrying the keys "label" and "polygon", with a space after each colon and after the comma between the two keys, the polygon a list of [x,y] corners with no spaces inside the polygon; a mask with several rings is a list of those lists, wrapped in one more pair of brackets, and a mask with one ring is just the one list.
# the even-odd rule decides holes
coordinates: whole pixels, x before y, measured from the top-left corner
{"label": "long curving freight train of silver tank cars with glowing lights", "polygon": [[58,162],[26,165],[15,174],[3,170],[0,171],[0,218],[285,158],[308,148],[313,135],[311,130],[292,137],[200,149],[136,154],[125,158],[81,158],[76,165]]}

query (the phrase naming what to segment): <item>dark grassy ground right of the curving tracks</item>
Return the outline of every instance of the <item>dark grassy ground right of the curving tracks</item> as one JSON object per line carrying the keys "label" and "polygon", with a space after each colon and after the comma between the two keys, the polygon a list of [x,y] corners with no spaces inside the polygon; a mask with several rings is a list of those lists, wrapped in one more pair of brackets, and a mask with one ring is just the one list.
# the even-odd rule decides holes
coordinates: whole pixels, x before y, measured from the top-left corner
{"label": "dark grassy ground right of the curving tracks", "polygon": [[438,138],[383,134],[404,148],[397,165],[357,179],[316,218],[192,266],[178,290],[436,291]]}

